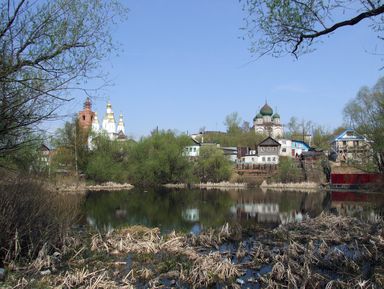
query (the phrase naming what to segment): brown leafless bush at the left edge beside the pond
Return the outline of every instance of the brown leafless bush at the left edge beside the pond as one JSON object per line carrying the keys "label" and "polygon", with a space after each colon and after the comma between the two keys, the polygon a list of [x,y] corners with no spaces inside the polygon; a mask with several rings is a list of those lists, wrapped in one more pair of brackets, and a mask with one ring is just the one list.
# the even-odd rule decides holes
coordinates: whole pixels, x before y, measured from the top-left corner
{"label": "brown leafless bush at the left edge beside the pond", "polygon": [[43,183],[18,176],[0,182],[0,263],[32,259],[59,248],[78,216],[77,196],[53,194]]}

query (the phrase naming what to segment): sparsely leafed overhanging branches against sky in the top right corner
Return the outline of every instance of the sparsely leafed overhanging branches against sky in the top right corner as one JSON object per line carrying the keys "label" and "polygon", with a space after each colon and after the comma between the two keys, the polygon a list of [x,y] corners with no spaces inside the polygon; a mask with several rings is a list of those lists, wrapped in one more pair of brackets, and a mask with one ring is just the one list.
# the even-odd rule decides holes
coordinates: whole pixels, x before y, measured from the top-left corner
{"label": "sparsely leafed overhanging branches against sky in the top right corner", "polygon": [[[313,50],[317,40],[346,27],[371,20],[378,33],[384,5],[379,0],[246,0],[245,29],[253,53],[282,56]],[[382,39],[381,36],[379,36]]]}

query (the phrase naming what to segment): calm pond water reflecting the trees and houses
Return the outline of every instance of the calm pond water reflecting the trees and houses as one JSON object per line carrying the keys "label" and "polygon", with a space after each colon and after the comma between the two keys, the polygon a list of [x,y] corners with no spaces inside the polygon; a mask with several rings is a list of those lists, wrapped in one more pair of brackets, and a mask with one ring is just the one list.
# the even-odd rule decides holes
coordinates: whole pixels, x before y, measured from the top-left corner
{"label": "calm pond water reflecting the trees and houses", "polygon": [[227,222],[273,228],[322,211],[374,220],[384,215],[384,194],[134,188],[89,192],[84,206],[87,223],[98,230],[144,225],[163,233],[199,233]]}

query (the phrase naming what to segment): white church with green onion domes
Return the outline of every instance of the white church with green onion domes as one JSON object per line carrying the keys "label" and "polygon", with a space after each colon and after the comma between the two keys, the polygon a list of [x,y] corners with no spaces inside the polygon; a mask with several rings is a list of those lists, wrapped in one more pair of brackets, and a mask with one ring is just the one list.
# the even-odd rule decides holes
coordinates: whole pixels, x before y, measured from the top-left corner
{"label": "white church with green onion domes", "polygon": [[276,139],[283,137],[283,125],[280,122],[280,115],[273,113],[272,108],[267,103],[254,117],[253,127],[256,133],[265,134]]}

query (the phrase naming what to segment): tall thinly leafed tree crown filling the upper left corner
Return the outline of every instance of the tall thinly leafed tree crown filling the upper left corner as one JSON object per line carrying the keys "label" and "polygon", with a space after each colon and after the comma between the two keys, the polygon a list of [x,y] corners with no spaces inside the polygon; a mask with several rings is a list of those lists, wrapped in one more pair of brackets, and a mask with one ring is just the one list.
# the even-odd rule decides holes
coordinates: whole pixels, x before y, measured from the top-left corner
{"label": "tall thinly leafed tree crown filling the upper left corner", "polygon": [[[0,157],[29,141],[114,48],[118,0],[1,1]],[[86,92],[86,91],[85,91]]]}

